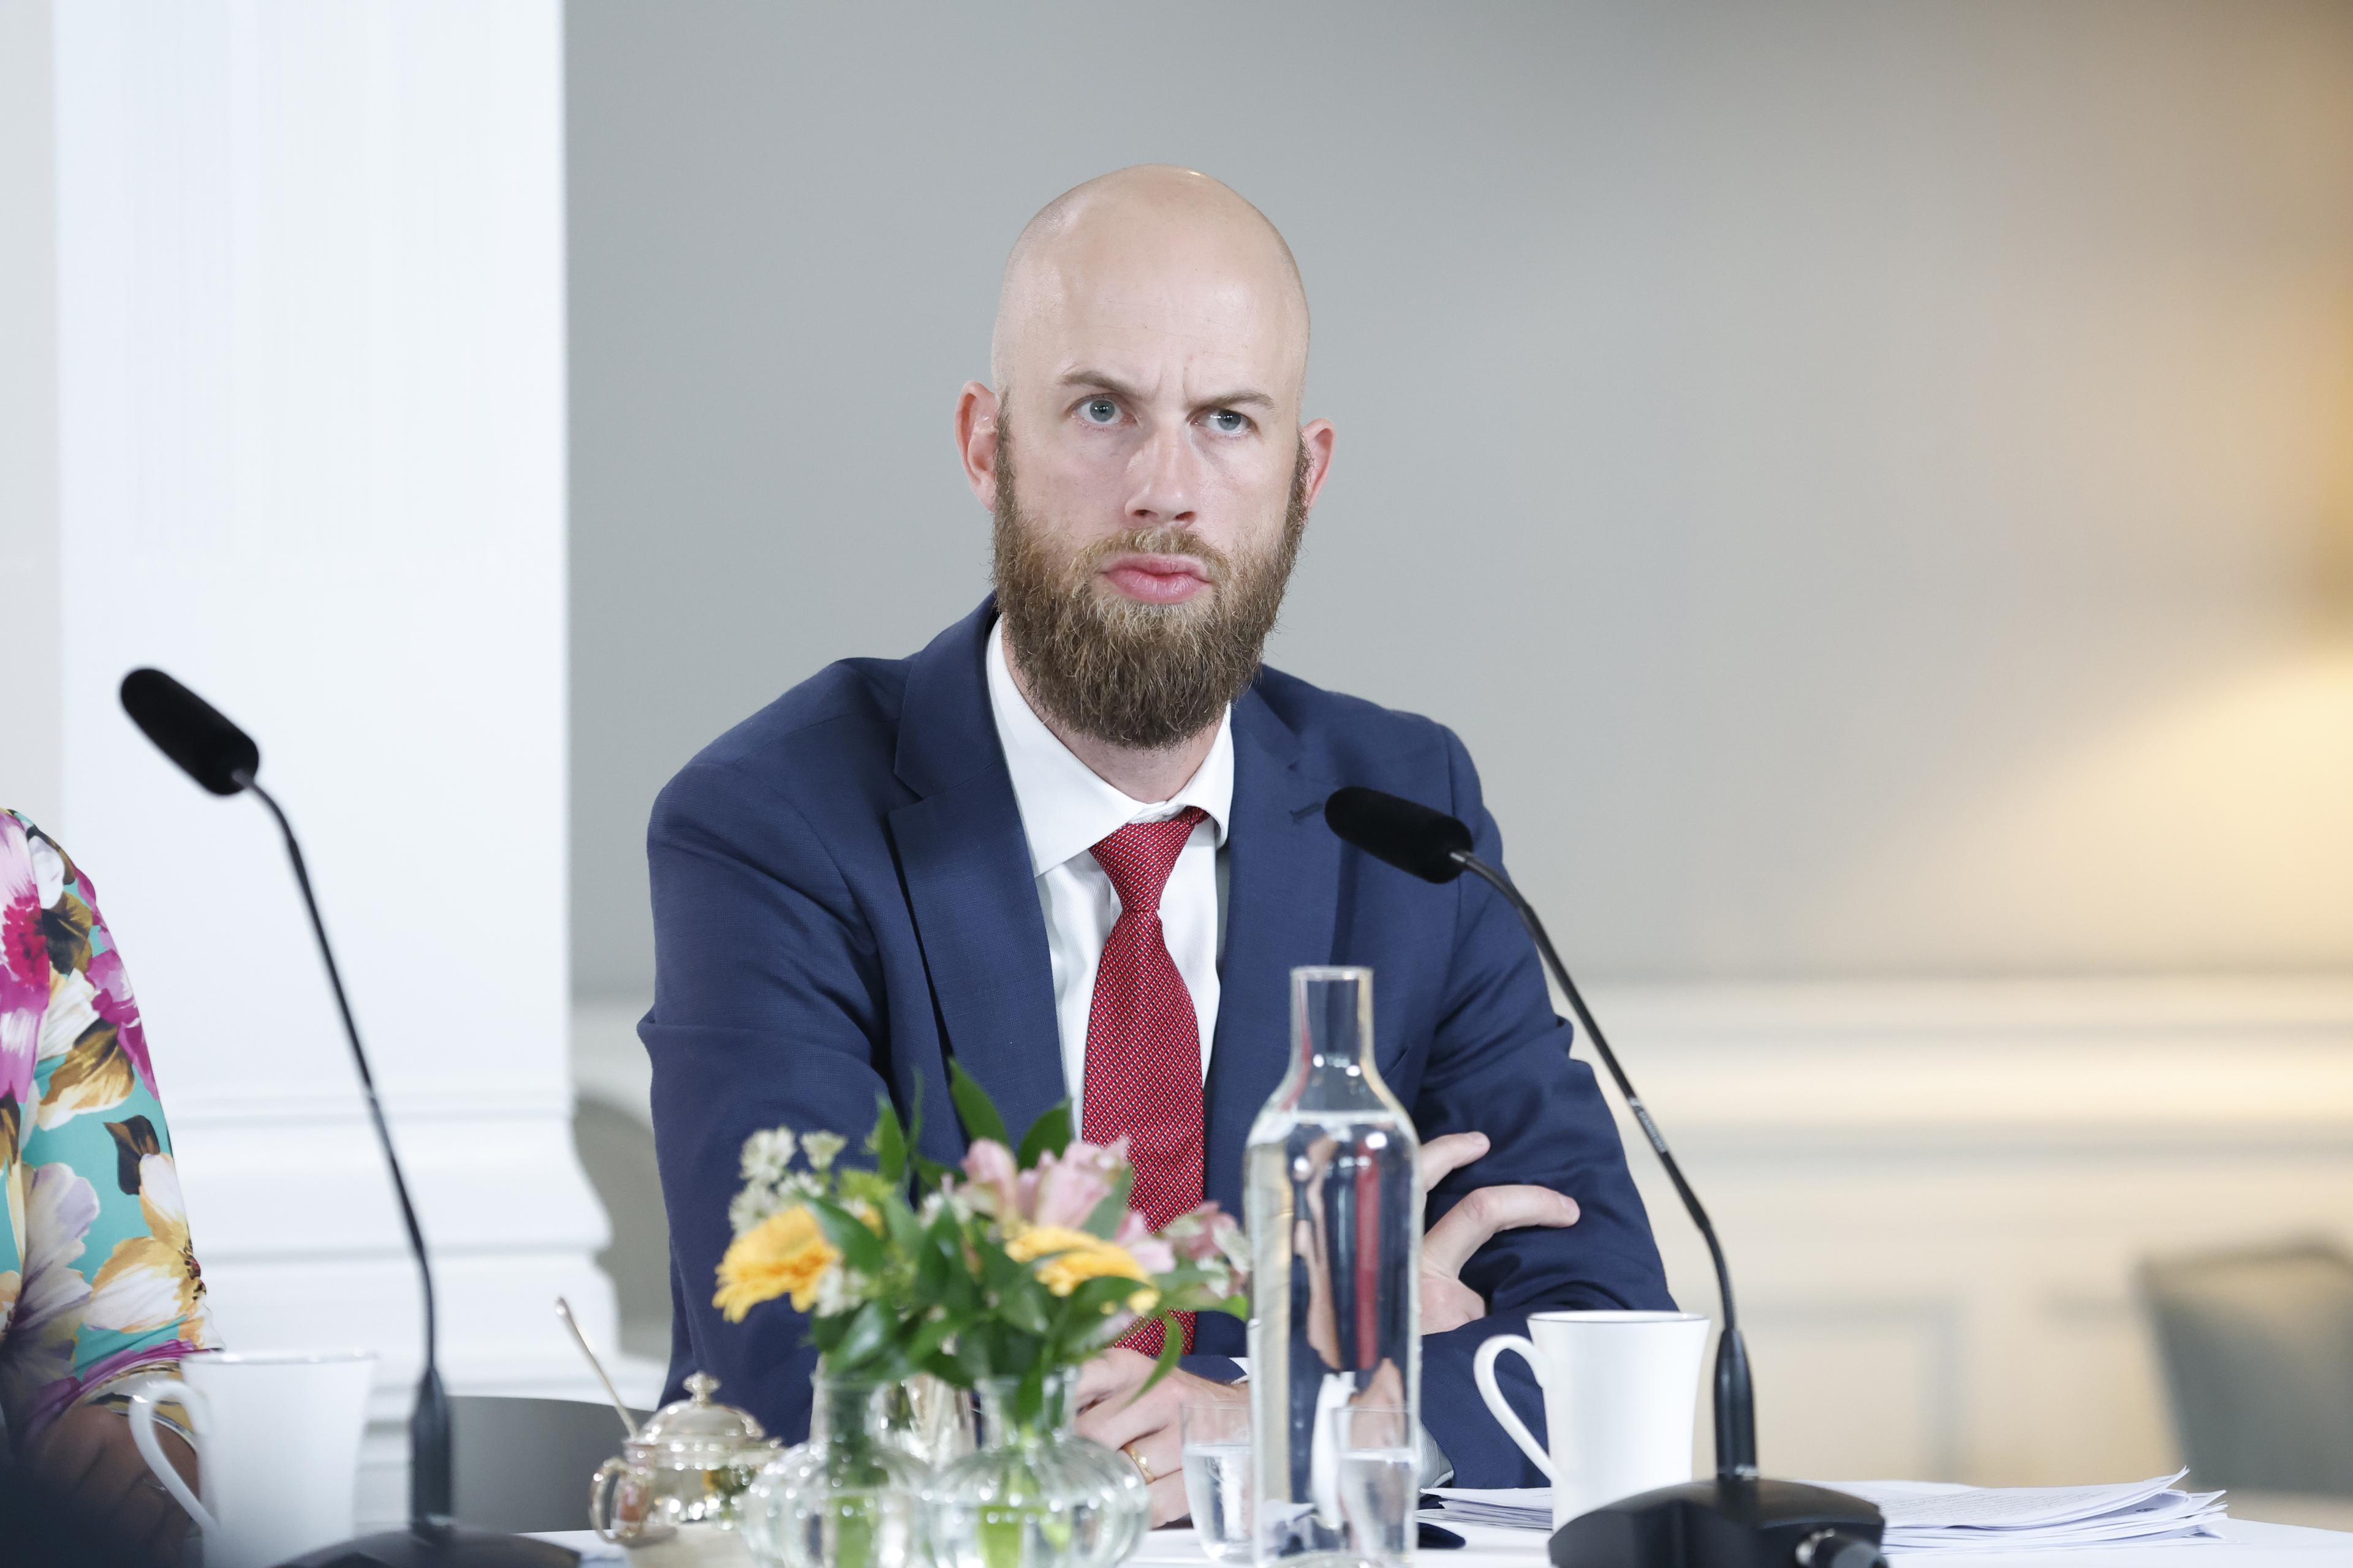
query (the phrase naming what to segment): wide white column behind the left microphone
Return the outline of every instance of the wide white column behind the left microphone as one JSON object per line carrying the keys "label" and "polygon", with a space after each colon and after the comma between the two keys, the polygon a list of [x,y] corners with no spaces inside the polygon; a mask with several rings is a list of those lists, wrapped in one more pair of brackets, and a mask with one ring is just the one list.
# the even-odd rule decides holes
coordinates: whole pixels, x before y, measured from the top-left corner
{"label": "wide white column behind the left microphone", "polygon": [[158,665],[304,835],[442,1291],[456,1392],[612,1338],[565,1060],[558,0],[75,0],[54,24],[59,837],[148,1018],[231,1345],[381,1354],[419,1295],[273,827],[127,724]]}

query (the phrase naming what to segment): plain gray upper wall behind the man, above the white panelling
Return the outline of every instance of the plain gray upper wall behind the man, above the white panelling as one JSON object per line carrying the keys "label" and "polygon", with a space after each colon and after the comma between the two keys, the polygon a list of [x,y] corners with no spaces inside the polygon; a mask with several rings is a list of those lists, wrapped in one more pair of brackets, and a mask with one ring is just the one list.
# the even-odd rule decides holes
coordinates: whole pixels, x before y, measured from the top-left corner
{"label": "plain gray upper wall behind the man, above the white panelling", "polygon": [[727,724],[986,588],[1066,186],[1289,235],[1271,658],[1438,715],[1609,978],[2353,964],[2346,5],[569,9],[574,973]]}

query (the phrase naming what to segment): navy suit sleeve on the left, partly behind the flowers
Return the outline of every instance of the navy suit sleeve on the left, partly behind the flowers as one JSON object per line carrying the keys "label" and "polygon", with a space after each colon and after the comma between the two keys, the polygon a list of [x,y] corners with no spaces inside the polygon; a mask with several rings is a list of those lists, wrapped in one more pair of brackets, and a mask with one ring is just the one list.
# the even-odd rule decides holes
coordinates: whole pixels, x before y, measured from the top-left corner
{"label": "navy suit sleeve on the left, partly behind the flowers", "polygon": [[722,1399],[800,1441],[816,1363],[807,1319],[769,1302],[727,1324],[711,1295],[744,1140],[772,1126],[828,1128],[856,1150],[873,1126],[885,1093],[875,943],[807,818],[734,766],[696,762],[671,780],[647,827],[647,863],[654,1009],[638,1034],[654,1067],[654,1150],[682,1307],[673,1345],[725,1385]]}

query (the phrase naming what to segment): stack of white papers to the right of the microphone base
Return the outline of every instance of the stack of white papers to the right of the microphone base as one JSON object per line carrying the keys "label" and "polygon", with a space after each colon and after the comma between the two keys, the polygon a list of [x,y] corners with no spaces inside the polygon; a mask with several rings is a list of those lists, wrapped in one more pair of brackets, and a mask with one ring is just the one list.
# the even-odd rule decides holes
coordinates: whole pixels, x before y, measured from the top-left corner
{"label": "stack of white papers to the right of the microphone base", "polygon": [[1826,1481],[1875,1502],[1889,1552],[2045,1552],[2202,1540],[2224,1516],[2221,1493],[2174,1488],[2188,1472],[2115,1486],[1941,1486],[1934,1481]]}

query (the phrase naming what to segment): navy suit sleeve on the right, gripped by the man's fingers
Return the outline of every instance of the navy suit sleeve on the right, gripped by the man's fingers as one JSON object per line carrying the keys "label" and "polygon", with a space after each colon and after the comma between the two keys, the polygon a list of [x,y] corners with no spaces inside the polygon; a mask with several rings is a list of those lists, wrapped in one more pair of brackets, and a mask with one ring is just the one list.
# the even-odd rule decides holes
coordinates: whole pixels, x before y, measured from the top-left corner
{"label": "navy suit sleeve on the right, gripped by the man's fingers", "polygon": [[[1473,853],[1504,863],[1504,842],[1480,799],[1461,741],[1447,738],[1452,813],[1471,825]],[[1414,1103],[1421,1138],[1485,1133],[1485,1159],[1428,1194],[1435,1222],[1475,1187],[1539,1185],[1577,1199],[1565,1229],[1511,1229],[1482,1246],[1461,1281],[1489,1316],[1421,1340],[1421,1420],[1454,1465],[1457,1486],[1541,1486],[1520,1448],[1487,1413],[1471,1378],[1478,1347],[1525,1333],[1529,1312],[1671,1309],[1649,1215],[1626,1171],[1609,1105],[1593,1070],[1569,1060],[1569,1025],[1553,1016],[1534,943],[1485,882],[1459,884],[1454,964],[1431,1060]],[[1499,1382],[1532,1432],[1544,1432],[1541,1394],[1518,1359]]]}

